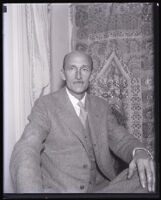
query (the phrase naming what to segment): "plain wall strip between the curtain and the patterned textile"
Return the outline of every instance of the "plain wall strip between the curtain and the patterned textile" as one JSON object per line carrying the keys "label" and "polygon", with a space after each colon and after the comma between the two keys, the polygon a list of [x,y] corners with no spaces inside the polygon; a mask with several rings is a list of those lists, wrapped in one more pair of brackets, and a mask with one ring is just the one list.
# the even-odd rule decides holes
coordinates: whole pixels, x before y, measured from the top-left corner
{"label": "plain wall strip between the curtain and the patterned textile", "polygon": [[70,4],[51,4],[51,91],[61,88],[63,58],[71,49]]}

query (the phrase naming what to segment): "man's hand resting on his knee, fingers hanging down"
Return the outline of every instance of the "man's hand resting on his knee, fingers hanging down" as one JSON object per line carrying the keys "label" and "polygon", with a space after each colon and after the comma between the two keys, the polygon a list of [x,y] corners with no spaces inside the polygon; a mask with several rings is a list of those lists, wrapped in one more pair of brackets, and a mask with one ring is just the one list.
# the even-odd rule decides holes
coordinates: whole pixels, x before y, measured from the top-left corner
{"label": "man's hand resting on his knee, fingers hanging down", "polygon": [[149,192],[155,191],[155,167],[152,158],[145,150],[137,150],[133,160],[129,164],[128,178],[131,178],[134,171],[138,170],[140,182],[143,188],[148,186]]}

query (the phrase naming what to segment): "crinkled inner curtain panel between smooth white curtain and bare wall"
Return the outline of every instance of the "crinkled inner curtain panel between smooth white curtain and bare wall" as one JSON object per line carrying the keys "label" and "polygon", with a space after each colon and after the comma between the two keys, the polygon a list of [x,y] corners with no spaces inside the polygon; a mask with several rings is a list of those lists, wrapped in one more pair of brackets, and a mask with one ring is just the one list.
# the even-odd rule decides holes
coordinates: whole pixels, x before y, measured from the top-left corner
{"label": "crinkled inner curtain panel between smooth white curtain and bare wall", "polygon": [[46,94],[50,91],[50,21],[48,8],[48,4],[25,5],[31,105],[41,93]]}

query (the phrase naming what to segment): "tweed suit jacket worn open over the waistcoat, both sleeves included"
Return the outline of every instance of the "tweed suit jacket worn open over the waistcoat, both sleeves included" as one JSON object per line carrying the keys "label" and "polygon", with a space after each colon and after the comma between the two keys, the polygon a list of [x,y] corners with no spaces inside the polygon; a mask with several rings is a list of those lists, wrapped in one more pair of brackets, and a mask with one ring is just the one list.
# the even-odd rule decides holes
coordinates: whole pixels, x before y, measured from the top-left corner
{"label": "tweed suit jacket worn open over the waistcoat, both sleeves included", "polygon": [[[106,101],[87,94],[86,107],[96,162],[112,180],[116,173],[110,151],[129,163],[133,149],[143,145],[117,124]],[[10,160],[15,192],[87,192],[91,163],[84,128],[65,88],[39,98],[28,119]]]}

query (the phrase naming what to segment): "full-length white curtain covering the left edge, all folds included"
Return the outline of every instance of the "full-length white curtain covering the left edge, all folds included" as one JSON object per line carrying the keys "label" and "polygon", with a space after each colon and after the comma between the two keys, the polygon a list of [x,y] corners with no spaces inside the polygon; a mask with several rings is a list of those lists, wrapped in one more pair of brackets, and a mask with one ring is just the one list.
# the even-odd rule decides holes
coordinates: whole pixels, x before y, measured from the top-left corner
{"label": "full-length white curtain covering the left edge, all folds included", "polygon": [[4,192],[13,192],[9,161],[34,101],[50,92],[48,4],[6,4],[4,44]]}

